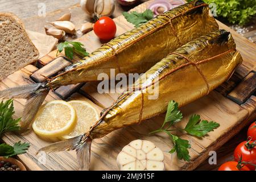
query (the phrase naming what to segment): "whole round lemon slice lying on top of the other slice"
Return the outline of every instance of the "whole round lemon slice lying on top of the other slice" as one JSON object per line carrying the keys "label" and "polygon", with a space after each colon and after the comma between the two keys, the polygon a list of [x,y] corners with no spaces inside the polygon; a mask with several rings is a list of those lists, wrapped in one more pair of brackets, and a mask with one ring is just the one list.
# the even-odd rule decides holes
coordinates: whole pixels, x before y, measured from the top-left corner
{"label": "whole round lemon slice lying on top of the other slice", "polygon": [[60,137],[76,125],[76,110],[65,101],[50,101],[40,107],[32,128],[40,137]]}

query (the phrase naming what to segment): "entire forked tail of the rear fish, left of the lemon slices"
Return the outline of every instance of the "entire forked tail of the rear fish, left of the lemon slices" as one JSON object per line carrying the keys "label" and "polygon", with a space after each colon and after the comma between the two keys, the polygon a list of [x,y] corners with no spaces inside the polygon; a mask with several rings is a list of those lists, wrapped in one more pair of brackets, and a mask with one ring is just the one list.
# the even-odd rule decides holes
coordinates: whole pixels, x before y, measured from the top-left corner
{"label": "entire forked tail of the rear fish, left of the lemon slices", "polygon": [[0,91],[0,98],[25,98],[22,119],[20,121],[20,133],[27,131],[32,119],[35,117],[39,107],[49,92],[49,88],[44,83],[17,86]]}

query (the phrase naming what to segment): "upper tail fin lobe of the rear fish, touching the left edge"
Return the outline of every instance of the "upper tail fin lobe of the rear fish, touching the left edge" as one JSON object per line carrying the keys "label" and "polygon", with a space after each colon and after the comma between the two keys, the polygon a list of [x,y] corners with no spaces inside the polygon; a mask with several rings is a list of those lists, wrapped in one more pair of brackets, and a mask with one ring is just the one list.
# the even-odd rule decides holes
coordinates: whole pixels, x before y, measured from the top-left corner
{"label": "upper tail fin lobe of the rear fish, touching the left edge", "polygon": [[14,88],[8,88],[0,91],[0,98],[28,98],[31,93],[34,93],[36,90],[42,86],[42,83],[16,86]]}

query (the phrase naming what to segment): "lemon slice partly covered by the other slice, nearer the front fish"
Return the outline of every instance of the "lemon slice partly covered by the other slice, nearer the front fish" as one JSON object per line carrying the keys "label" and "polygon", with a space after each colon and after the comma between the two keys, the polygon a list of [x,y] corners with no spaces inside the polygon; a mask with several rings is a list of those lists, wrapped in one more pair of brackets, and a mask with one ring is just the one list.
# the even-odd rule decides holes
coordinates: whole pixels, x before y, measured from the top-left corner
{"label": "lemon slice partly covered by the other slice, nearer the front fish", "polygon": [[77,123],[73,131],[68,135],[60,137],[61,140],[73,138],[86,133],[94,125],[94,123],[100,118],[98,111],[95,107],[86,101],[69,101],[76,110]]}

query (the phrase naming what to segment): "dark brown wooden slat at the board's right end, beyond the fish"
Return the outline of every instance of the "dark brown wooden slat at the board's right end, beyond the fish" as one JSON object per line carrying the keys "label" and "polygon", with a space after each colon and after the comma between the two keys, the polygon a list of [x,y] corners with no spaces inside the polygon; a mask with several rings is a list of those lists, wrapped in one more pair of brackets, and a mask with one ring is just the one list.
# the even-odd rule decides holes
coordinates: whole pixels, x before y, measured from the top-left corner
{"label": "dark brown wooden slat at the board's right end, beyond the fish", "polygon": [[243,81],[228,94],[228,98],[237,104],[245,102],[256,91],[256,73],[250,72]]}

